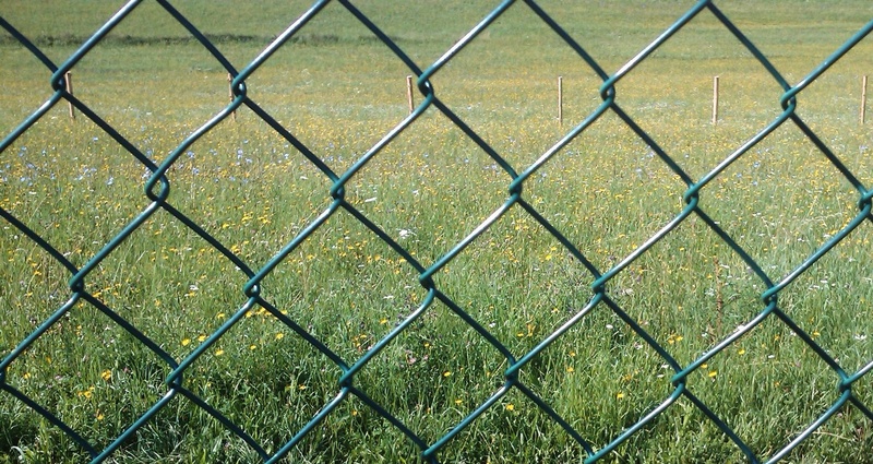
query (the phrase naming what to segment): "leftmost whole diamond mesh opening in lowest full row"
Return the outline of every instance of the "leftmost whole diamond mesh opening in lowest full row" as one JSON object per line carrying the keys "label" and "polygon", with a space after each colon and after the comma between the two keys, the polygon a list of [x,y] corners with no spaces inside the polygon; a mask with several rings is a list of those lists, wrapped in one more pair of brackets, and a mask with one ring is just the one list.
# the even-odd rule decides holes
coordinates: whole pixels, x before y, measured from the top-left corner
{"label": "leftmost whole diamond mesh opening in lowest full row", "polygon": [[168,372],[141,341],[79,302],[10,365],[8,383],[99,451],[166,393]]}

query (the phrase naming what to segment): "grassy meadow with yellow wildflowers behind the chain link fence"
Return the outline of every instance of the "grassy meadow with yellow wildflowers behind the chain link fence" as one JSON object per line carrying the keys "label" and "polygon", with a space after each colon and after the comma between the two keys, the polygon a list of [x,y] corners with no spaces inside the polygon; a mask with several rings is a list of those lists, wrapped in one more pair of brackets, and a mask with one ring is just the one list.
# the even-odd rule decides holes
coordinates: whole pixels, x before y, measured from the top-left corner
{"label": "grassy meadow with yellow wildflowers behind the chain link fence", "polygon": [[[304,1],[190,0],[176,5],[242,70],[309,7]],[[240,4],[242,3],[242,4]],[[357,7],[422,70],[495,2],[362,1]],[[571,4],[567,4],[571,3]],[[723,3],[723,4],[722,4]],[[694,3],[542,1],[612,74]],[[723,1],[718,7],[800,82],[873,17],[869,1]],[[0,17],[60,66],[113,12],[108,1],[0,0]],[[0,34],[0,136],[51,95],[51,72]],[[160,164],[228,105],[227,70],[157,2],[144,2],[73,68],[75,96]],[[339,3],[328,4],[246,81],[248,97],[333,172],[355,166],[407,115],[411,71]],[[798,96],[797,114],[865,186],[871,124],[859,123],[861,76],[873,73],[868,37]],[[713,78],[719,121],[710,122]],[[557,80],[563,79],[563,123]],[[435,95],[516,172],[526,170],[602,99],[600,78],[524,3],[510,8],[431,79]],[[697,181],[780,114],[781,87],[708,11],[615,86],[617,104]],[[416,104],[421,95],[416,94]],[[3,139],[9,140],[9,139]],[[99,452],[170,391],[174,368],[110,319],[127,320],[171,357],[192,359],[181,384],[250,435],[280,450],[340,386],[343,369],[303,340],[294,321],[347,366],[356,391],[397,418],[415,443],[349,394],[284,462],[420,462],[430,447],[504,384],[511,360],[587,311],[596,276],[521,205],[433,274],[430,267],[510,197],[510,175],[430,107],[345,185],[339,209],[299,246],[286,247],[333,205],[328,176],[248,108],[180,153],[166,172],[166,204],[84,277],[87,297],[9,362],[0,381],[57,416]],[[77,269],[150,207],[151,171],[65,103],[0,153],[0,207]],[[614,112],[564,146],[525,182],[523,199],[602,274],[685,206],[687,185]],[[798,269],[858,215],[858,191],[788,121],[699,193],[705,212],[773,282]],[[355,210],[408,253],[397,253]],[[0,357],[79,295],[72,273],[0,219]],[[705,362],[704,354],[765,310],[766,284],[692,214],[606,284],[599,302],[524,365],[518,381],[598,451],[685,386],[762,461],[834,405],[838,373],[873,360],[873,230],[861,224],[778,294],[793,323],[770,314]],[[282,261],[243,292],[250,277]],[[240,266],[239,264],[243,264]],[[417,311],[426,306],[423,311]],[[490,343],[463,311],[503,348]],[[619,313],[626,314],[626,320]],[[410,316],[414,320],[409,321]],[[227,332],[223,331],[234,322]],[[870,377],[852,383],[873,405]],[[83,462],[88,454],[24,402],[0,392],[0,463]],[[787,453],[790,463],[873,463],[871,419],[848,404]],[[586,451],[517,388],[435,454],[440,462],[583,462]],[[748,462],[681,396],[601,462]],[[109,462],[252,462],[258,452],[195,401],[174,396]]]}

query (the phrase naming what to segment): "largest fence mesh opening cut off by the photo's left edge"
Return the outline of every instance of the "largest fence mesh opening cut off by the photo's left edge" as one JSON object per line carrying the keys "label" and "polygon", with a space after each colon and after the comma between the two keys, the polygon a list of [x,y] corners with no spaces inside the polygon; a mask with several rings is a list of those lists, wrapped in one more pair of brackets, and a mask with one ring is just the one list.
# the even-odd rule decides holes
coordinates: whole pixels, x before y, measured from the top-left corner
{"label": "largest fence mesh opening cut off by the photo's left edge", "polygon": [[2,206],[81,266],[148,204],[142,165],[93,124],[46,122],[10,147]]}

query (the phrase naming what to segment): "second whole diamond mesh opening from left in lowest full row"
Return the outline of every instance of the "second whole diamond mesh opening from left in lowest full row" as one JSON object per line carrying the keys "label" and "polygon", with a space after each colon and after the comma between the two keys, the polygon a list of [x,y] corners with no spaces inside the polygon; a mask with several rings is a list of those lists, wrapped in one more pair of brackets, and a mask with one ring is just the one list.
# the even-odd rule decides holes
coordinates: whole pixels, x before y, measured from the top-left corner
{"label": "second whole diamond mesh opening from left in lowest full row", "polygon": [[183,386],[267,453],[278,451],[338,393],[340,370],[261,307],[203,343],[212,344],[182,371]]}

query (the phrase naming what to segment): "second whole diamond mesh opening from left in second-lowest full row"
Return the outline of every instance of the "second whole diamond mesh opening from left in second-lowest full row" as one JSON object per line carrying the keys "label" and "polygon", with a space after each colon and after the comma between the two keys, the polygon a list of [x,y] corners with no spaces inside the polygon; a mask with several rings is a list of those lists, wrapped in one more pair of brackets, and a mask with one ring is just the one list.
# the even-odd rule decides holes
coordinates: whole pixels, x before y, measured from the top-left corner
{"label": "second whole diamond mesh opening from left in second-lowest full row", "polygon": [[349,366],[423,297],[402,257],[343,211],[263,281],[263,297]]}

